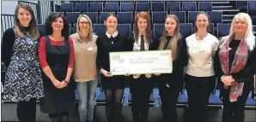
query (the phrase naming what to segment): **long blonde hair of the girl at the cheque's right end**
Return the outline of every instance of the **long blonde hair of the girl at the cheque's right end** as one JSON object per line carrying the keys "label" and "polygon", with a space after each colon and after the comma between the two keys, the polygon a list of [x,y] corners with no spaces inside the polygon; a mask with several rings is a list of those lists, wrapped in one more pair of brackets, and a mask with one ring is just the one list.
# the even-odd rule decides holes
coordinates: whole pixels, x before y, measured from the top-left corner
{"label": "long blonde hair of the girl at the cheque's right end", "polygon": [[[172,49],[172,57],[173,57],[173,61],[176,60],[176,54],[178,53],[178,50],[177,50],[177,44],[178,42],[180,41],[180,38],[181,38],[181,34],[180,34],[180,21],[178,19],[178,17],[176,15],[167,15],[166,16],[166,19],[167,20],[168,18],[171,18],[171,19],[174,19],[176,21],[176,28],[174,30],[174,35],[173,35],[173,38],[170,40],[170,43],[168,44],[168,47],[167,49]],[[166,21],[165,21],[166,22]],[[161,42],[159,44],[159,48],[158,49],[163,49],[165,44],[167,43],[167,31],[165,29],[165,27],[163,27],[163,31],[162,31],[162,38],[161,38]]]}

